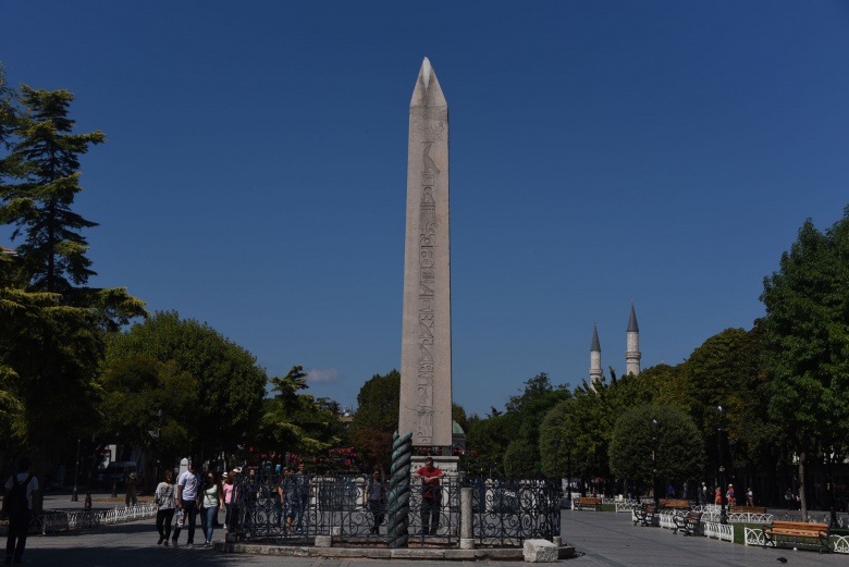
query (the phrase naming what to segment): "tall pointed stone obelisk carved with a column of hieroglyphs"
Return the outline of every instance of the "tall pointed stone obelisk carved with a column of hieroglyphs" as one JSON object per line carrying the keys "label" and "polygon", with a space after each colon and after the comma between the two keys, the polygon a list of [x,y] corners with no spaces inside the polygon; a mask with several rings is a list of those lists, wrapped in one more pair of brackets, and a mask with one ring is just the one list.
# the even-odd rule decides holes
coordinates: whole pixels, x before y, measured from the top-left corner
{"label": "tall pointed stone obelisk carved with a column of hieroglyphs", "polygon": [[430,61],[409,104],[398,433],[452,444],[448,104]]}

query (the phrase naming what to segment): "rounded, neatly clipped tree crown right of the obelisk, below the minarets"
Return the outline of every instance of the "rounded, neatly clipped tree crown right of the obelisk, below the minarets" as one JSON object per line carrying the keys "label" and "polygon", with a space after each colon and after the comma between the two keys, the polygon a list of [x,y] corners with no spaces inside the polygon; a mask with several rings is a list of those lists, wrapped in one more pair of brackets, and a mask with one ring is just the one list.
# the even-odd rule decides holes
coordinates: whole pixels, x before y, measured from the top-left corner
{"label": "rounded, neatly clipped tree crown right of the obelisk, below the minarets", "polygon": [[[652,459],[654,455],[654,459]],[[616,421],[610,446],[611,471],[649,482],[697,480],[704,468],[701,433],[690,416],[668,405],[640,405]]]}

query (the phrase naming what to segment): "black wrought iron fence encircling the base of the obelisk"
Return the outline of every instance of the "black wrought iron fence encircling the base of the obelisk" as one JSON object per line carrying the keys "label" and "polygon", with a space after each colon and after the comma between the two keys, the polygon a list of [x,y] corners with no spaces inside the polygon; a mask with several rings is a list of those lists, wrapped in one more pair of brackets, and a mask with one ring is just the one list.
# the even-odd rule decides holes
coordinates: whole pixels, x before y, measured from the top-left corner
{"label": "black wrought iron fence encircling the base of the obelisk", "polygon": [[[369,502],[362,477],[311,477],[295,483],[275,474],[237,477],[235,522],[229,531],[250,541],[309,544],[334,541],[385,543],[385,502]],[[472,538],[479,545],[515,546],[526,539],[559,535],[559,486],[550,480],[445,477],[438,491],[410,481],[409,541],[456,545],[460,538],[460,489],[471,489]]]}

